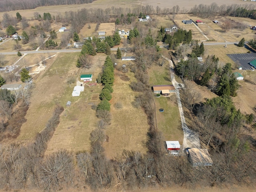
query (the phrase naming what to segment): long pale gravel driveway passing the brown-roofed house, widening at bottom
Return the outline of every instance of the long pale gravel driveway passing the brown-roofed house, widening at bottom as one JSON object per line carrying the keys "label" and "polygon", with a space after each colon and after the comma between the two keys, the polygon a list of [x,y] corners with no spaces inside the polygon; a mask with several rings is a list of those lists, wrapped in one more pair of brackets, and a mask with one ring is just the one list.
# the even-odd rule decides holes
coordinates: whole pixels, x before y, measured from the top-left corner
{"label": "long pale gravel driveway passing the brown-roofed house, widening at bottom", "polygon": [[[168,60],[169,64],[170,64],[170,76],[171,76],[171,80],[172,80],[172,84],[175,87],[176,91],[176,97],[177,97],[177,102],[178,102],[178,107],[180,110],[180,118],[181,118],[181,124],[182,124],[182,129],[184,132],[184,138],[183,138],[183,148],[200,148],[200,140],[198,138],[198,136],[188,128],[187,124],[186,124],[186,120],[184,117],[184,112],[182,109],[182,104],[181,104],[181,100],[180,100],[180,92],[179,89],[180,86],[178,85],[179,83],[176,82],[175,77],[174,77],[174,69],[173,69],[173,64],[172,61],[164,56],[162,56],[164,59]],[[183,84],[181,84],[182,87],[184,87]]]}

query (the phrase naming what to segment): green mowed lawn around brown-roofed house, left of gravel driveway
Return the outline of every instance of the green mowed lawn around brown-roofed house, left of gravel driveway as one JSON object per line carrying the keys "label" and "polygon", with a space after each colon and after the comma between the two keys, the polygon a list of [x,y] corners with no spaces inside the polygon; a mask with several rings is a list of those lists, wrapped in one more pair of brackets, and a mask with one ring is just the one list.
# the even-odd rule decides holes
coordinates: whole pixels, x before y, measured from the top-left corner
{"label": "green mowed lawn around brown-roofed house, left of gravel driveway", "polygon": [[[164,66],[152,66],[148,70],[148,74],[150,76],[150,86],[172,84],[168,62]],[[154,93],[152,92],[152,94]],[[162,132],[164,140],[178,140],[182,144],[183,130],[176,94],[171,93],[170,97],[154,97],[154,101],[156,104],[158,129]],[[160,108],[164,108],[164,112],[160,112]]]}

